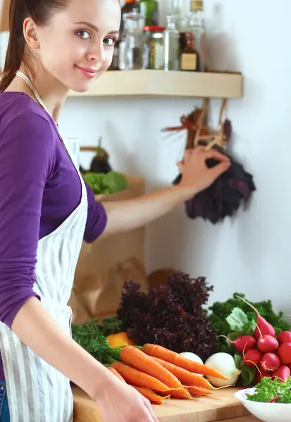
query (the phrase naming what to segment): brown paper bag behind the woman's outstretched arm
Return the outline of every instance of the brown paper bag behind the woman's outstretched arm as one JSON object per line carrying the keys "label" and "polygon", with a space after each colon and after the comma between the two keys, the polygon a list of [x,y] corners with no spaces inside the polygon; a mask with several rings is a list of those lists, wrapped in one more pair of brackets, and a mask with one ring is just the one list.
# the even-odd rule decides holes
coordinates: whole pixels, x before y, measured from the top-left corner
{"label": "brown paper bag behind the woman's outstretched arm", "polygon": [[[123,174],[129,187],[111,195],[98,195],[100,202],[137,198],[144,193],[144,179]],[[129,216],[130,218],[130,216]],[[116,313],[123,283],[135,280],[147,290],[144,269],[144,227],[109,238],[83,242],[75,271],[69,305],[73,324],[82,324],[95,316],[100,319]]]}

